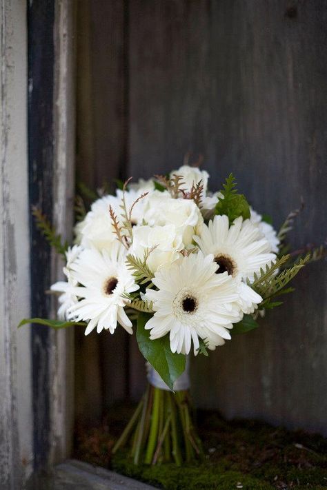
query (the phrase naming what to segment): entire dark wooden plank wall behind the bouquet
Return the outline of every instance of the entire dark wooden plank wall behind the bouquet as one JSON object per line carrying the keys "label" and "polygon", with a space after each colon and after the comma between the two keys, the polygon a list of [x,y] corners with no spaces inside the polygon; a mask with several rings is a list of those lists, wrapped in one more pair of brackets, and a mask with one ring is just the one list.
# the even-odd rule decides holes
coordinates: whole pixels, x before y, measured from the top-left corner
{"label": "entire dark wooden plank wall behind the bouquet", "polygon": [[[324,0],[80,0],[77,171],[91,186],[204,155],[278,227],[305,207],[295,247],[326,239]],[[192,360],[198,407],[327,433],[326,262],[261,328]],[[144,386],[135,338],[76,335],[77,420]]]}

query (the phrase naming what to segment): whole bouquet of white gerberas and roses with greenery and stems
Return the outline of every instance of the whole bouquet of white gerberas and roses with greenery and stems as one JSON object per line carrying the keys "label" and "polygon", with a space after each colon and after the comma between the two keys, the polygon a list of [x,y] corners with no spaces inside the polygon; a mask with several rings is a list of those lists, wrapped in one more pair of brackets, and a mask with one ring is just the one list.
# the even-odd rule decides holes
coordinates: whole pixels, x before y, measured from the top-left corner
{"label": "whole bouquet of white gerberas and roses with greenery and stems", "polygon": [[167,176],[119,185],[101,194],[63,244],[46,218],[39,227],[65,259],[54,328],[85,326],[85,334],[136,330],[148,367],[148,388],[114,451],[128,445],[135,464],[201,458],[190,404],[188,356],[213,351],[258,326],[281,305],[288,283],[311,254],[285,254],[297,212],[279,233],[252,210],[230,174],[219,192],[208,173],[183,165]]}

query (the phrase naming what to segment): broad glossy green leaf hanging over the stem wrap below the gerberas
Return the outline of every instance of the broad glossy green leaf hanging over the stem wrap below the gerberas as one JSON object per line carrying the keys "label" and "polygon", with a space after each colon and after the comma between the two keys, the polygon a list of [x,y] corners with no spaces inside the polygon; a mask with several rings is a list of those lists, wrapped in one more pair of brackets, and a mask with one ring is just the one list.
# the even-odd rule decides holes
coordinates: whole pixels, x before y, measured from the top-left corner
{"label": "broad glossy green leaf hanging over the stem wrap below the gerberas", "polygon": [[173,390],[174,382],[185,370],[186,356],[173,354],[169,336],[150,340],[150,332],[144,328],[151,318],[149,314],[139,314],[137,318],[137,343],[148,363],[157,371],[166,385]]}

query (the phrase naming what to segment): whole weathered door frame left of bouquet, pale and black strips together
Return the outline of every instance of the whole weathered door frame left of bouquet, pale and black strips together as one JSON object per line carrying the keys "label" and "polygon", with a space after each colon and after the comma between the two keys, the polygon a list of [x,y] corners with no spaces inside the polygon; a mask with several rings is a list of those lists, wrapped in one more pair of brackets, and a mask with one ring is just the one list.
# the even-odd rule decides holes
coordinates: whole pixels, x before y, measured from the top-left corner
{"label": "whole weathered door frame left of bouquet, pale and black strips together", "polygon": [[75,192],[75,5],[1,3],[0,487],[20,490],[70,456],[73,332],[21,318],[53,314],[62,274],[30,216],[37,205],[70,238]]}

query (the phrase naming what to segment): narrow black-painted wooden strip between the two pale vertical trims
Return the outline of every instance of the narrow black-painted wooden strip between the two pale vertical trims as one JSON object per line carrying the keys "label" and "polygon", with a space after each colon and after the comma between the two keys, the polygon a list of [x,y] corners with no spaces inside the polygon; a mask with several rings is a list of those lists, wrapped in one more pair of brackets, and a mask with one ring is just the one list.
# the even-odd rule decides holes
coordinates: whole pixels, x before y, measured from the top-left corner
{"label": "narrow black-painted wooden strip between the two pale vertical trims", "polygon": [[[28,6],[28,159],[30,205],[52,219],[54,2]],[[51,284],[50,247],[30,216],[31,315],[47,318]],[[45,465],[50,451],[50,329],[32,326],[32,402],[34,412],[34,467]]]}

